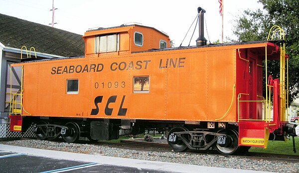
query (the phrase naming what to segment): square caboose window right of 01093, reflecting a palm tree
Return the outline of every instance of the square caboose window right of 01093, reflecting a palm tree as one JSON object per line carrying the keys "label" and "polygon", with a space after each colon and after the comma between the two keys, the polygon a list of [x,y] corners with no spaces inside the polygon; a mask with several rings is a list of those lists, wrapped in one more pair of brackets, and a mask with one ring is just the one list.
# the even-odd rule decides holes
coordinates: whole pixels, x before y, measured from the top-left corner
{"label": "square caboose window right of 01093, reflecting a palm tree", "polygon": [[149,93],[149,76],[134,76],[134,93]]}

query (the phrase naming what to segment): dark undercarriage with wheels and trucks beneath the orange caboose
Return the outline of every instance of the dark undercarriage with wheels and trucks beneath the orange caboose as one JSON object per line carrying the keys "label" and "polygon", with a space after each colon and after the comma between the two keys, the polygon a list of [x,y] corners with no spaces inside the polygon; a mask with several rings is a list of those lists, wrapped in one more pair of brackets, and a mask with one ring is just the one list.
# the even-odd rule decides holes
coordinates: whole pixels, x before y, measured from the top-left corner
{"label": "dark undercarriage with wheels and trucks beneath the orange caboose", "polygon": [[[39,140],[62,137],[65,142],[74,143],[79,137],[86,137],[89,141],[96,142],[118,139],[120,129],[126,135],[137,135],[154,128],[166,133],[169,147],[176,152],[187,149],[205,151],[212,148],[220,154],[230,155],[240,149],[236,123],[197,122],[195,125],[184,121],[23,117],[22,131],[26,131],[32,123]],[[242,147],[247,150],[249,148]]]}

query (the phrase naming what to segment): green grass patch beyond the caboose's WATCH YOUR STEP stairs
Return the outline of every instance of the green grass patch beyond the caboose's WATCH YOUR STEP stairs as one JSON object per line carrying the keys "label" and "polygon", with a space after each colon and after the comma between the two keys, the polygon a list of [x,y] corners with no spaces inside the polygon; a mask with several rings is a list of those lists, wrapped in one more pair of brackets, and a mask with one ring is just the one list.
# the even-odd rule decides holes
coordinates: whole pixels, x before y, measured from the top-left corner
{"label": "green grass patch beyond the caboose's WATCH YOUR STEP stairs", "polygon": [[296,153],[293,152],[293,139],[292,137],[287,142],[284,141],[269,141],[267,149],[259,147],[251,147],[249,152],[254,153],[271,153],[271,154],[284,154],[299,156],[299,138],[295,137]]}

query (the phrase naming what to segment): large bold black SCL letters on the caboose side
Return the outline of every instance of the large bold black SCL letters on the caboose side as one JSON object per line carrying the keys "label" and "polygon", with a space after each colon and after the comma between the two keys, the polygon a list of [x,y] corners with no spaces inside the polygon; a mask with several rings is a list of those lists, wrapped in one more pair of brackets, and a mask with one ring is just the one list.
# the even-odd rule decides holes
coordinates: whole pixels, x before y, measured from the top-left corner
{"label": "large bold black SCL letters on the caboose side", "polygon": [[[119,108],[119,111],[118,111],[118,116],[126,116],[127,114],[127,108],[123,108],[123,104],[124,104],[124,101],[125,101],[125,98],[126,96],[123,96],[123,99],[122,99],[122,102],[121,102],[121,105],[120,105],[120,108]],[[105,115],[107,116],[111,116],[112,115],[112,112],[113,112],[113,108],[109,108],[109,104],[110,103],[115,103],[116,102],[116,99],[117,99],[117,96],[111,96],[109,97],[109,99],[107,100],[107,103],[106,103],[106,107],[105,107]],[[95,107],[96,109],[92,109],[91,110],[91,113],[90,115],[97,115],[99,113],[99,106],[98,106],[98,103],[102,103],[102,100],[103,100],[103,96],[97,96],[95,98]]]}

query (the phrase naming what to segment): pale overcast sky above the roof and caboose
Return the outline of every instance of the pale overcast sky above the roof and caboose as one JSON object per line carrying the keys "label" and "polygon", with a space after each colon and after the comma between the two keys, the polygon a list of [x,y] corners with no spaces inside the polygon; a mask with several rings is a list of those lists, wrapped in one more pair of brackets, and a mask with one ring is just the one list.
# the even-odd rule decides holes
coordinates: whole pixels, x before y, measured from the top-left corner
{"label": "pale overcast sky above the roof and caboose", "polygon": [[[88,28],[135,22],[167,33],[175,46],[179,46],[197,15],[198,6],[206,10],[205,38],[211,42],[221,40],[218,0],[54,0],[54,7],[58,8],[54,27],[83,35]],[[234,20],[245,9],[257,8],[262,8],[257,0],[224,0],[224,37],[235,38],[231,31]],[[48,26],[52,22],[50,9],[52,0],[0,0],[0,13]],[[188,45],[190,35],[184,46]],[[197,37],[196,28],[191,45],[196,44]]]}

